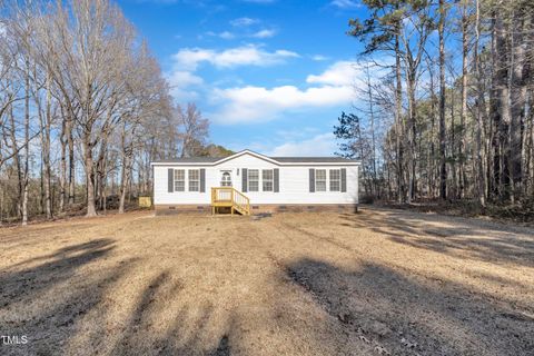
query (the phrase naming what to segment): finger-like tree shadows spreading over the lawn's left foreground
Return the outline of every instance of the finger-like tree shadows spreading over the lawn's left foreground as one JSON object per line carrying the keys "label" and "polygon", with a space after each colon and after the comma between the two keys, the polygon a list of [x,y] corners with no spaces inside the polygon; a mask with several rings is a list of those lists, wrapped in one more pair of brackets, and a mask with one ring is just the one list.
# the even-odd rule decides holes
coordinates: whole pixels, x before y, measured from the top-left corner
{"label": "finger-like tree shadows spreading over the lawn's left foreground", "polygon": [[[1,271],[0,335],[26,335],[28,344],[0,345],[0,355],[59,355],[80,345],[86,348],[78,349],[79,355],[230,355],[227,334],[202,334],[211,318],[210,307],[198,310],[195,334],[185,336],[191,327],[187,306],[176,318],[166,319],[169,327],[162,335],[154,327],[155,318],[172,312],[166,304],[182,289],[169,271],[150,280],[126,322],[109,329],[107,310],[112,313],[117,303],[121,308],[120,300],[109,304],[113,287],[131,278],[138,263],[130,258],[102,264],[113,249],[112,239],[93,239]],[[131,290],[118,293],[127,296]],[[207,340],[214,345],[205,345]]]}

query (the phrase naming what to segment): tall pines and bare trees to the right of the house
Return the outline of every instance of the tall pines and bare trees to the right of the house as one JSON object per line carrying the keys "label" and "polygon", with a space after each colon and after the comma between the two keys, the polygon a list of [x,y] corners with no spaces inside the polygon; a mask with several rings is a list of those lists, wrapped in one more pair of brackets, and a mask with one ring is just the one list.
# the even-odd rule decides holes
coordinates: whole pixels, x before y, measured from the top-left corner
{"label": "tall pines and bare trees to the right of the house", "polygon": [[363,3],[348,34],[364,46],[364,79],[335,134],[342,155],[363,160],[366,192],[532,204],[532,1]]}

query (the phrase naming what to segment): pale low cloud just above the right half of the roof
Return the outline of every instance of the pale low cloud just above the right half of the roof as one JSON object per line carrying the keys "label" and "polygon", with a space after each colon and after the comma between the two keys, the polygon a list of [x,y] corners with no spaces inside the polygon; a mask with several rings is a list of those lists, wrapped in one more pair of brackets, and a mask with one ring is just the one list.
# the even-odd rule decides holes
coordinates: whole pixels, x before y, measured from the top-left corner
{"label": "pale low cloud just above the right half of the roof", "polygon": [[265,154],[274,157],[332,156],[336,148],[336,138],[332,132],[327,132],[299,141],[285,142]]}

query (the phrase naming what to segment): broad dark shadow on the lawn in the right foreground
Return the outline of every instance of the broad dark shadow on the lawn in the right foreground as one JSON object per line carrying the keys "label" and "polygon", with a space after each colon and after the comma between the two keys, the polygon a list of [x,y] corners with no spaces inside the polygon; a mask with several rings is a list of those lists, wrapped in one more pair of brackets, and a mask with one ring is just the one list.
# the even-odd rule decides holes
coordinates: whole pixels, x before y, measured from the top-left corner
{"label": "broad dark shadow on the lawn in the right foreground", "polygon": [[287,275],[347,334],[392,355],[526,356],[534,349],[532,314],[491,304],[461,285],[423,284],[372,263],[345,270],[301,259]]}

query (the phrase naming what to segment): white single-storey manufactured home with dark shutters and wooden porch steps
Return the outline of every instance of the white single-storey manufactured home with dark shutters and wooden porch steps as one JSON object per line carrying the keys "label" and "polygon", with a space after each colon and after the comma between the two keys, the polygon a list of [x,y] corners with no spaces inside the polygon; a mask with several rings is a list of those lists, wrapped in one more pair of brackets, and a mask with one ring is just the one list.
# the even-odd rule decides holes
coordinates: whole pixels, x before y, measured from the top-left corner
{"label": "white single-storey manufactured home with dark shutters and wooden porch steps", "polygon": [[267,157],[244,150],[151,166],[157,214],[355,211],[358,204],[359,162],[340,157]]}

